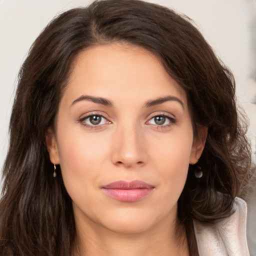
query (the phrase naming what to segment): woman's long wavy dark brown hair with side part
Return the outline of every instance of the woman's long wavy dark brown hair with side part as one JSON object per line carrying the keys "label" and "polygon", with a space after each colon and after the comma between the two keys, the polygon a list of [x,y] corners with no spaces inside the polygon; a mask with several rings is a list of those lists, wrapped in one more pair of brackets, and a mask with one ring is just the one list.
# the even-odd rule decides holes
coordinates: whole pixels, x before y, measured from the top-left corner
{"label": "woman's long wavy dark brown hair with side part", "polygon": [[187,17],[140,0],[94,1],[53,19],[21,66],[3,166],[0,255],[70,255],[76,235],[71,199],[60,170],[52,177],[45,132],[54,123],[73,58],[113,41],[155,54],[186,91],[195,136],[201,125],[208,128],[198,162],[203,176],[195,178],[189,166],[178,200],[191,255],[192,218],[211,222],[232,213],[250,163],[232,74]]}

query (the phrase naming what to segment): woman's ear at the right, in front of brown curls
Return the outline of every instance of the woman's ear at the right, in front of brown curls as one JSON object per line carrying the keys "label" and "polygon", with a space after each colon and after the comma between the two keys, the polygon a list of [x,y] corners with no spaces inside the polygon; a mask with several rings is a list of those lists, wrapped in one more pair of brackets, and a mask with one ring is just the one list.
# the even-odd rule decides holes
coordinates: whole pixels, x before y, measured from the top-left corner
{"label": "woman's ear at the right, in front of brown curls", "polygon": [[205,126],[198,127],[198,136],[194,138],[193,145],[191,148],[191,153],[189,158],[190,164],[195,164],[200,158],[204,148],[205,141],[206,141],[207,131],[208,129]]}

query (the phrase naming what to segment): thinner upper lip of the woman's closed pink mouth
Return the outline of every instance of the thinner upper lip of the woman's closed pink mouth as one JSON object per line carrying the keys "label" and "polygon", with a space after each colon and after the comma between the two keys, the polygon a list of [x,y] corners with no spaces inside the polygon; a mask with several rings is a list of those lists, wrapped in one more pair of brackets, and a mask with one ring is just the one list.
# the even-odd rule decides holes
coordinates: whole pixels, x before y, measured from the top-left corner
{"label": "thinner upper lip of the woman's closed pink mouth", "polygon": [[136,189],[136,188],[154,188],[154,186],[141,180],[132,180],[132,181],[117,180],[109,184],[103,185],[102,188]]}

